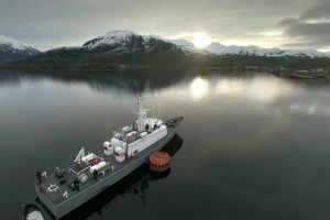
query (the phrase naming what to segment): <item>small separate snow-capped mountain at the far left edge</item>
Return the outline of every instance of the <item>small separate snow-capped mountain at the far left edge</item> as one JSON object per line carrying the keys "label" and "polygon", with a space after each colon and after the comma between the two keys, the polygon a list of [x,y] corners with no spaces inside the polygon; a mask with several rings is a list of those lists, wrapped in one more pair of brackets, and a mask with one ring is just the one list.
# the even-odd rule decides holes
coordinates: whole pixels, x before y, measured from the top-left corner
{"label": "small separate snow-capped mountain at the far left edge", "polygon": [[14,38],[0,35],[0,61],[24,58],[38,51]]}

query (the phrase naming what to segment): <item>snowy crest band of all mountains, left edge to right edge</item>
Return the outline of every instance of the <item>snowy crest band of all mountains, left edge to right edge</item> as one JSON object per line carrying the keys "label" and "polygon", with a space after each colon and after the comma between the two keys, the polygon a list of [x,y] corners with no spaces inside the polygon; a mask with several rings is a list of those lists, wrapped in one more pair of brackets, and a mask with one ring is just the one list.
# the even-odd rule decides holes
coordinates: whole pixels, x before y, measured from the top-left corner
{"label": "snowy crest band of all mountains, left edge to right edge", "polygon": [[[59,48],[79,48],[87,47],[89,50],[99,47],[99,46],[109,46],[113,44],[124,44],[125,40],[130,37],[141,37],[144,44],[147,44],[150,41],[163,41],[166,43],[172,43],[183,50],[185,53],[210,53],[217,56],[227,56],[227,55],[248,55],[248,56],[266,56],[266,57],[282,57],[282,56],[293,56],[293,57],[330,57],[330,53],[318,52],[316,50],[282,50],[282,48],[264,48],[255,45],[249,46],[239,46],[239,45],[223,45],[218,42],[212,42],[210,45],[198,48],[191,42],[185,38],[165,38],[160,35],[142,35],[129,30],[114,30],[109,31],[105,35],[97,36],[92,40],[85,42],[81,46],[66,46]],[[52,48],[48,51],[54,51],[58,48]],[[45,51],[45,52],[48,52]],[[34,55],[40,51],[29,46],[22,42],[19,42],[14,38],[10,38],[3,35],[0,35],[0,53],[11,52],[12,54],[24,52],[24,55]]]}

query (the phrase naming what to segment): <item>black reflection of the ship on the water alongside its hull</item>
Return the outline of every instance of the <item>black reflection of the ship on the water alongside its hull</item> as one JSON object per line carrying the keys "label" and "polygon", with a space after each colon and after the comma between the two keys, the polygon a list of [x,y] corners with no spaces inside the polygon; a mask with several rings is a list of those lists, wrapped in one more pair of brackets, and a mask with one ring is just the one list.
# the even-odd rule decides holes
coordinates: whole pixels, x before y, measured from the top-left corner
{"label": "black reflection of the ship on the water alongside its hull", "polygon": [[[162,150],[167,152],[170,156],[174,156],[183,146],[184,140],[175,134],[170,142]],[[173,167],[175,169],[175,167]],[[139,197],[143,207],[147,207],[146,190],[154,182],[166,178],[170,173],[170,168],[162,173],[153,173],[150,170],[148,165],[144,164],[132,174],[118,182],[109,189],[102,191],[97,197],[90,199],[76,210],[72,211],[62,220],[72,219],[88,219],[92,215],[103,216],[111,212],[111,207],[119,202],[122,197],[127,195],[133,195]]]}

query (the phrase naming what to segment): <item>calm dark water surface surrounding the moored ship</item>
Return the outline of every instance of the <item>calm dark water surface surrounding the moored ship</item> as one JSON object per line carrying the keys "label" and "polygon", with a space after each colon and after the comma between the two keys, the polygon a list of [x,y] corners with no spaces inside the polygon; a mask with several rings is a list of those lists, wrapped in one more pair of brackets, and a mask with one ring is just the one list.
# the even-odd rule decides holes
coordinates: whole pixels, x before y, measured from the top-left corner
{"label": "calm dark water surface surrounding the moored ship", "polygon": [[1,216],[35,197],[35,170],[131,123],[138,91],[185,116],[169,174],[141,167],[66,219],[330,218],[330,84],[197,70],[1,73]]}

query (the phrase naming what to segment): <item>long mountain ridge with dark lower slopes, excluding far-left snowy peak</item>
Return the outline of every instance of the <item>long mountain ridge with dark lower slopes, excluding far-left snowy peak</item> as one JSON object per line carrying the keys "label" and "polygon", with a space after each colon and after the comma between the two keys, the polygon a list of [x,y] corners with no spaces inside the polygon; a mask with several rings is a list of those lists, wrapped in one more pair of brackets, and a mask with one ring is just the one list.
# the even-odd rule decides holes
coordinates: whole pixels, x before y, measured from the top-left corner
{"label": "long mountain ridge with dark lower slopes, excluding far-left snowy peak", "polygon": [[8,66],[30,68],[121,68],[122,66],[326,67],[330,55],[317,51],[226,46],[212,43],[197,48],[191,42],[141,35],[132,31],[110,31],[81,46],[57,47],[29,56]]}

